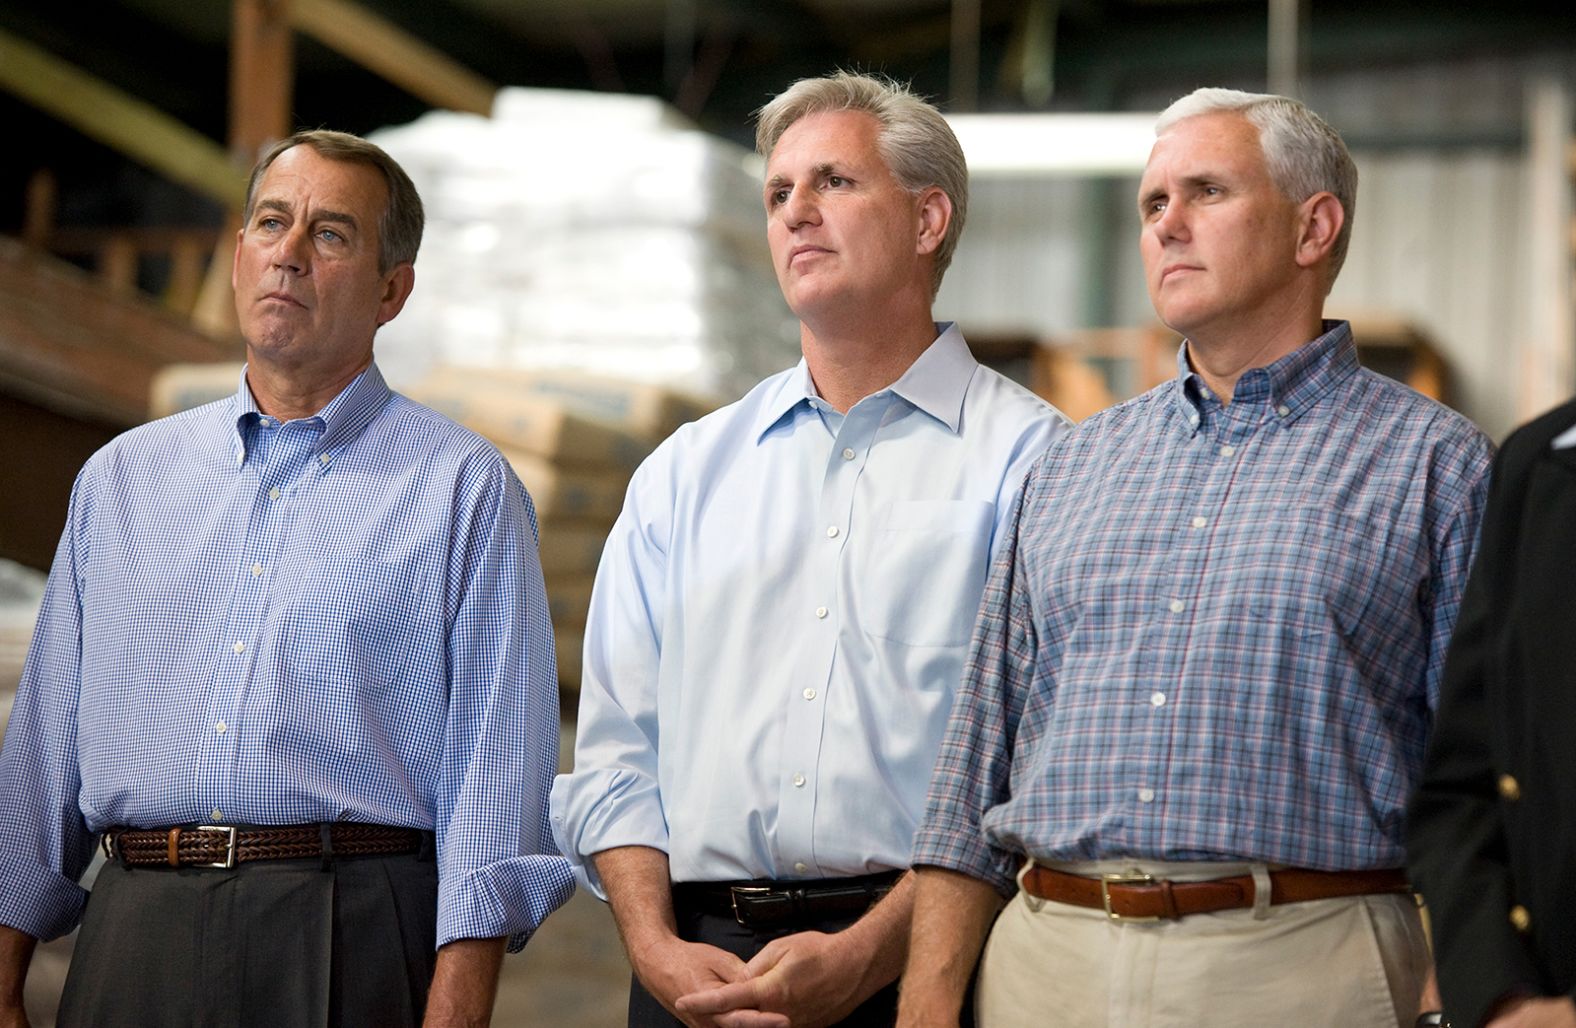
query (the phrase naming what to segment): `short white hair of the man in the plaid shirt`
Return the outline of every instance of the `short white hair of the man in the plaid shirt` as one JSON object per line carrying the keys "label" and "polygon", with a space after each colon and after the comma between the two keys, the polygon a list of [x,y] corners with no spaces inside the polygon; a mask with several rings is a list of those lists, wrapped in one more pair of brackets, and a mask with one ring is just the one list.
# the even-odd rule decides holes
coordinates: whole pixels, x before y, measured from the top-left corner
{"label": "short white hair of the man in the plaid shirt", "polygon": [[1155,121],[1155,136],[1184,118],[1218,112],[1240,114],[1259,129],[1259,147],[1264,150],[1270,180],[1294,203],[1302,203],[1316,192],[1332,192],[1341,202],[1346,222],[1330,249],[1333,284],[1346,263],[1346,248],[1352,241],[1352,221],[1357,216],[1357,166],[1340,132],[1289,96],[1202,88],[1166,107]]}

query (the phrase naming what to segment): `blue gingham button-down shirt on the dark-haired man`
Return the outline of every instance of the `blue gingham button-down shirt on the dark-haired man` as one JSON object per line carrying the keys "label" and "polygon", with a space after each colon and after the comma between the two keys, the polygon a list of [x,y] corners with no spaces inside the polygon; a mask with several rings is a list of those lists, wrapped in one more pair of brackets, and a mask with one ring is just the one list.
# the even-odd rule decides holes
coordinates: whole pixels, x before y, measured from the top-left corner
{"label": "blue gingham button-down shirt on the dark-haired man", "polygon": [[69,930],[95,832],[437,832],[438,933],[572,889],[536,512],[487,441],[369,367],[317,416],[230,399],[77,476],[0,752],[0,924]]}

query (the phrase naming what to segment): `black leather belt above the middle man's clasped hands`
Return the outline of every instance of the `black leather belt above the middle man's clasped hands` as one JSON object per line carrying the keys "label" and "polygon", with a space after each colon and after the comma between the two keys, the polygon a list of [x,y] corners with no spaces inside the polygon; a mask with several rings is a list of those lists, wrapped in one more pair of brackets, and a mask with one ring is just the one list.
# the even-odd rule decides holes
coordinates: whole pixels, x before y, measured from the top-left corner
{"label": "black leather belt above the middle man's clasped hands", "polygon": [[673,886],[673,905],[733,918],[747,929],[779,929],[829,918],[857,918],[890,892],[903,873],[889,870],[808,881],[681,881]]}

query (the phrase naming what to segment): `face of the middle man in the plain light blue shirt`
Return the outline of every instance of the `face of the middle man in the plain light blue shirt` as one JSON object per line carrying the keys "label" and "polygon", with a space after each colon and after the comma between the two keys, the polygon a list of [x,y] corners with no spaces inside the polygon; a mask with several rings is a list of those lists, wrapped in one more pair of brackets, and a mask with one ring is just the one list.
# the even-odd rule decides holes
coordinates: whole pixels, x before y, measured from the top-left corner
{"label": "face of the middle man in the plain light blue shirt", "polygon": [[[881,125],[851,110],[812,114],[766,161],[766,240],[783,298],[801,318],[873,296],[924,290],[936,243],[924,199],[905,189],[876,148]],[[950,208],[949,208],[950,210]]]}

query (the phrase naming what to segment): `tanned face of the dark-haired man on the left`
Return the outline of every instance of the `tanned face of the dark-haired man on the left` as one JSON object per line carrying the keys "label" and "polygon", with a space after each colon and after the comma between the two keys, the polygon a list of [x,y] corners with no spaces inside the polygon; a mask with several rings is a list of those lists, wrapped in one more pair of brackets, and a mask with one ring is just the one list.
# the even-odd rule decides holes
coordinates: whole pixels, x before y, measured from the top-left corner
{"label": "tanned face of the dark-haired man on the left", "polygon": [[383,173],[312,147],[279,155],[257,184],[235,243],[235,311],[247,359],[312,382],[372,359],[372,334],[410,295],[413,271],[378,271]]}

